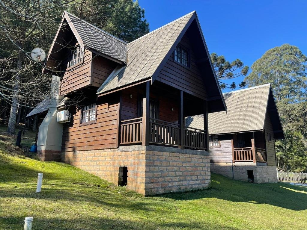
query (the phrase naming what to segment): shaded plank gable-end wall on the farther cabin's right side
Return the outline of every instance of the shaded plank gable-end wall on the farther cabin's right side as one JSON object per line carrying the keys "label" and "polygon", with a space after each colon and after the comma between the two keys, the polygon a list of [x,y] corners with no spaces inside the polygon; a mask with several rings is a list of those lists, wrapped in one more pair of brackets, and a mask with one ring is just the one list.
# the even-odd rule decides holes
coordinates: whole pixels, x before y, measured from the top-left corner
{"label": "shaded plank gable-end wall on the farther cabin's right side", "polygon": [[[266,120],[264,123],[264,131],[266,137],[266,156],[268,165],[275,166],[276,165],[276,155],[275,155],[275,147],[274,147],[274,133],[273,127],[271,124],[269,114],[266,114]],[[271,141],[268,140],[268,132],[271,134]]]}

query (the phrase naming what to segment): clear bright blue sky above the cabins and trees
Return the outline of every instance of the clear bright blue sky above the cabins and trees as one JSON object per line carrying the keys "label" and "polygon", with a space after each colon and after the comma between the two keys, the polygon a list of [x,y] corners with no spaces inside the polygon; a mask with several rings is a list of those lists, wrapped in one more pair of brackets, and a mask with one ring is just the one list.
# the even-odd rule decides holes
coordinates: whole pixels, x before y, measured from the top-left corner
{"label": "clear bright blue sky above the cabins and trees", "polygon": [[285,43],[307,55],[304,0],[139,0],[139,4],[145,9],[150,31],[196,10],[209,52],[224,55],[229,61],[239,58],[251,67],[268,49]]}

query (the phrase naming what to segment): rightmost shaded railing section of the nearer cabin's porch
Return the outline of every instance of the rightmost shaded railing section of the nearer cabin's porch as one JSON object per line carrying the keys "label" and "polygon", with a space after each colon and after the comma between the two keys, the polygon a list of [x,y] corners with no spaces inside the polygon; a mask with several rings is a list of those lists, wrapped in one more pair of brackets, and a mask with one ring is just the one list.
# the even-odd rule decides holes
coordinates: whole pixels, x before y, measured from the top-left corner
{"label": "rightmost shaded railing section of the nearer cabin's porch", "polygon": [[206,132],[202,129],[184,126],[184,147],[188,149],[207,149]]}

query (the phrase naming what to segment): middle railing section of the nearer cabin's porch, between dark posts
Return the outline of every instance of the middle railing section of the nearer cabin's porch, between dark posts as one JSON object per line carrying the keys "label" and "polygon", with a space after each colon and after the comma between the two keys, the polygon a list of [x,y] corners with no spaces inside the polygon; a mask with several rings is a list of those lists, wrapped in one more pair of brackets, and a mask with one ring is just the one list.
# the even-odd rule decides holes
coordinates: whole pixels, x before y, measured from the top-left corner
{"label": "middle railing section of the nearer cabin's porch, between dark posts", "polygon": [[159,119],[149,119],[149,142],[180,145],[180,125]]}

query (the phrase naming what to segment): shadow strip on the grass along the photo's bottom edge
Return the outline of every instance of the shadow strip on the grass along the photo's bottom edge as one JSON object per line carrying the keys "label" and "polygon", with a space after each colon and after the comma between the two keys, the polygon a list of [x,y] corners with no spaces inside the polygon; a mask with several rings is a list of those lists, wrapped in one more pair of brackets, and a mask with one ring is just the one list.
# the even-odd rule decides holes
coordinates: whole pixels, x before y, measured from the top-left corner
{"label": "shadow strip on the grass along the photo's bottom edge", "polygon": [[[29,216],[31,213],[29,213]],[[123,216],[121,216],[123,217]],[[196,221],[183,221],[179,218],[174,217],[171,221],[147,221],[145,218],[140,218],[137,220],[127,220],[125,218],[107,218],[107,217],[86,217],[82,216],[79,219],[76,217],[66,218],[42,218],[33,216],[33,227],[32,229],[49,230],[49,229],[65,229],[65,230],[95,230],[95,229],[113,229],[113,230],[134,230],[134,229],[227,229],[227,230],[237,230],[238,228],[232,228],[229,226],[221,226],[219,224],[206,225],[204,223],[199,223]],[[24,217],[4,217],[1,218],[0,223],[2,229],[17,230],[22,229],[24,224]]]}

